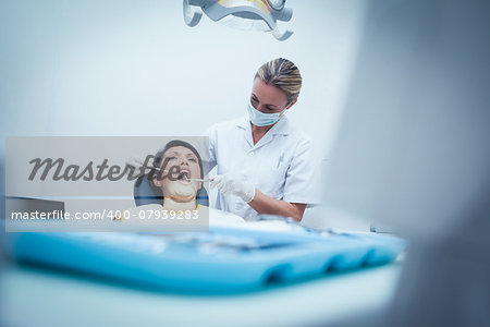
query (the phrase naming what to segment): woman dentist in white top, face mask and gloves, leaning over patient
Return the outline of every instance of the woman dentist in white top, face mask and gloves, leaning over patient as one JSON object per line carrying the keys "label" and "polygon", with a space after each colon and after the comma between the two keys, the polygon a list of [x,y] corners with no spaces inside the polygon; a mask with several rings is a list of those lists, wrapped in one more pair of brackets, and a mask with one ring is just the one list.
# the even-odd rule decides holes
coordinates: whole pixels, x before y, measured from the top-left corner
{"label": "woman dentist in white top, face mask and gloves, leaning over patient", "polygon": [[311,140],[284,114],[302,87],[297,66],[279,58],[261,65],[254,78],[247,116],[215,124],[209,136],[209,169],[217,167],[211,187],[216,207],[257,220],[279,215],[301,221],[316,203],[316,165]]}

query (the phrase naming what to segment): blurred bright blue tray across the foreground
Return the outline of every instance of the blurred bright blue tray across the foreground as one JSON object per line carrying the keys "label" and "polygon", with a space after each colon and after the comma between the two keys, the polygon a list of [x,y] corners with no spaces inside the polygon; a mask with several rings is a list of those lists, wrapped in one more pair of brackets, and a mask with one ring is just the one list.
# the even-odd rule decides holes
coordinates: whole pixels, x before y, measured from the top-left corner
{"label": "blurred bright blue tray across the foreground", "polygon": [[230,293],[393,261],[405,246],[379,234],[211,228],[209,233],[8,233],[19,259],[155,290]]}

